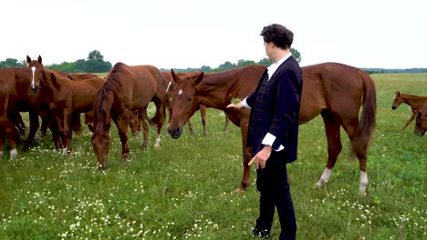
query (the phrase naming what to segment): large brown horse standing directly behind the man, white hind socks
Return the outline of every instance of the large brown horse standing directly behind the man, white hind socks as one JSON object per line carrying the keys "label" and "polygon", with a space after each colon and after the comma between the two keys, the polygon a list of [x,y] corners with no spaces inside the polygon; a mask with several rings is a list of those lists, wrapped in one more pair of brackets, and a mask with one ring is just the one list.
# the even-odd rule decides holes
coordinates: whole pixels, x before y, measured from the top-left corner
{"label": "large brown horse standing directly behind the man, white hind socks", "polygon": [[[266,67],[251,65],[216,74],[180,78],[173,90],[172,121],[168,131],[173,138],[182,134],[182,125],[192,116],[196,105],[224,110],[234,125],[241,127],[244,175],[239,189],[249,185],[251,149],[245,148],[249,110],[226,108],[233,98],[243,99],[252,94]],[[324,185],[342,149],[340,126],[349,135],[351,150],[359,158],[359,193],[364,195],[368,185],[366,173],[367,148],[375,128],[376,90],[370,75],[358,68],[337,63],[309,65],[302,68],[303,91],[299,124],[318,115],[323,117],[328,138],[328,164],[317,185]],[[286,103],[284,103],[286,104]],[[363,111],[359,119],[359,108]]]}

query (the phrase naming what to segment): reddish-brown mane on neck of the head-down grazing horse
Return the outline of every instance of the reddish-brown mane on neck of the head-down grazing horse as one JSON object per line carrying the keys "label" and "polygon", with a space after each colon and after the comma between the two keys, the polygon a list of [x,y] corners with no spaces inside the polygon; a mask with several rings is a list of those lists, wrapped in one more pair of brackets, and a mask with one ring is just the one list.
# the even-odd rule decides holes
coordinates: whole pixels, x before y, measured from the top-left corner
{"label": "reddish-brown mane on neck of the head-down grazing horse", "polygon": [[99,135],[107,135],[109,131],[110,109],[114,104],[115,96],[121,92],[121,84],[117,73],[127,65],[117,63],[113,66],[104,85],[99,88],[97,99],[94,103],[95,131]]}

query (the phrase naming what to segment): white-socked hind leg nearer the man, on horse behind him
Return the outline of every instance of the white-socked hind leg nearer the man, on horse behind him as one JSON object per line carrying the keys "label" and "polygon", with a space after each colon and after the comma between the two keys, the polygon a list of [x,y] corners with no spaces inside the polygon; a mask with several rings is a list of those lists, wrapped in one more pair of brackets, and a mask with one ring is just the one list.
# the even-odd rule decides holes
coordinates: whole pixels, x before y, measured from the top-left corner
{"label": "white-socked hind leg nearer the man, on horse behind him", "polygon": [[332,168],[337,162],[338,155],[342,149],[341,137],[339,135],[339,122],[334,118],[333,115],[326,111],[323,111],[321,115],[323,117],[325,131],[328,138],[328,163],[325,167],[325,170],[323,171],[323,174],[320,176],[318,183],[316,184],[318,187],[328,182]]}

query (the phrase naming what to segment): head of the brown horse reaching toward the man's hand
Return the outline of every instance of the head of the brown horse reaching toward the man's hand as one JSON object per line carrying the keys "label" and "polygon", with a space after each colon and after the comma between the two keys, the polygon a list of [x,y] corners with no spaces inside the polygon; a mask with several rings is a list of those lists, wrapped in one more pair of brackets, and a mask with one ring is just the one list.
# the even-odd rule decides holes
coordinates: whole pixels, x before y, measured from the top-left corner
{"label": "head of the brown horse reaching toward the man's hand", "polygon": [[172,92],[172,118],[168,125],[168,132],[172,138],[179,138],[182,134],[183,125],[197,110],[197,90],[203,79],[203,72],[188,75],[177,75],[171,69],[172,78],[175,82]]}

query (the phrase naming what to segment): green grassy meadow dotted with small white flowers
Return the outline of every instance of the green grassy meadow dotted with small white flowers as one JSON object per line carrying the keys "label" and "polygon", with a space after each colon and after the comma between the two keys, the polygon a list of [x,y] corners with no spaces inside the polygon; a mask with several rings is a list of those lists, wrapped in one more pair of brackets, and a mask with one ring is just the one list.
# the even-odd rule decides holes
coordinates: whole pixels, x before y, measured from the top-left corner
{"label": "green grassy meadow dotted with small white flowers", "polygon": [[[391,110],[397,90],[427,95],[427,74],[372,77],[378,112],[368,194],[359,195],[359,162],[349,155],[344,131],[329,182],[315,187],[328,157],[324,126],[320,116],[300,125],[298,159],[288,165],[297,239],[427,238],[427,136],[414,135],[414,123],[401,132],[408,105]],[[72,139],[70,156],[54,149],[49,132],[12,160],[7,149],[0,158],[0,239],[252,239],[255,167],[248,189],[234,192],[243,171],[239,128],[223,132],[224,114],[215,109],[208,109],[208,136],[199,113],[192,120],[195,135],[186,126],[179,139],[164,125],[159,148],[151,126],[146,151],[141,133],[129,134],[125,164],[112,125],[105,172],[97,169],[86,125]],[[279,232],[276,215],[272,239]]]}

